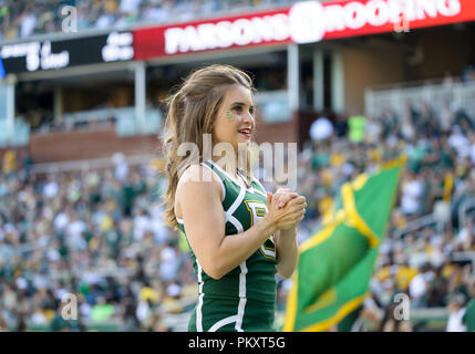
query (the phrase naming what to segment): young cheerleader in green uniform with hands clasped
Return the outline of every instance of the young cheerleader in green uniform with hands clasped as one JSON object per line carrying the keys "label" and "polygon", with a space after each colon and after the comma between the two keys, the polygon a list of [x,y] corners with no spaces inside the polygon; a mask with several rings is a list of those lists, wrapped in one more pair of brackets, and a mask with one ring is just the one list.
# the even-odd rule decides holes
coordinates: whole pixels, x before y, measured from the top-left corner
{"label": "young cheerleader in green uniform with hands clasped", "polygon": [[[266,192],[249,163],[233,170],[237,163],[203,153],[204,134],[213,146],[233,147],[235,160],[239,146],[250,145],[252,90],[245,72],[211,65],[189,75],[169,100],[165,218],[185,233],[195,261],[198,301],[189,331],[272,331],[276,272],[288,278],[297,264],[306,198],[289,189]],[[198,147],[196,164],[180,156],[185,143]]]}

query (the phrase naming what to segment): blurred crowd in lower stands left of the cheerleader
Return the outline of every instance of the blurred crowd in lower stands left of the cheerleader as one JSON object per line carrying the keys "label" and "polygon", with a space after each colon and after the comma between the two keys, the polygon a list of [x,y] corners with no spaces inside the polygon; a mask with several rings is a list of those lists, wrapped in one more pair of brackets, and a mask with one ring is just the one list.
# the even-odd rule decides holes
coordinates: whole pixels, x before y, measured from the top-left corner
{"label": "blurred crowd in lower stands left of the cheerleader", "polygon": [[[186,241],[165,228],[159,215],[165,181],[159,162],[130,166],[121,154],[112,160],[100,170],[40,176],[16,168],[21,164],[13,154],[4,156],[3,330],[25,324],[79,330],[89,321],[118,319],[120,330],[167,331],[164,313],[194,305],[196,280]],[[64,313],[73,315],[73,302],[78,321],[64,321]]]}

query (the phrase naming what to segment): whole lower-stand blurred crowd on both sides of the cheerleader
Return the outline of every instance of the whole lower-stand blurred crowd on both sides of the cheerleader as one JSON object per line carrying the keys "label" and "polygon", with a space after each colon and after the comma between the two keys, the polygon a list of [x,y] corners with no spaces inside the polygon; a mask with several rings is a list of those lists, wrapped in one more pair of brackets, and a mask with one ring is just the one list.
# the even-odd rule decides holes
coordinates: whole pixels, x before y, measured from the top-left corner
{"label": "whole lower-stand blurred crowd on both sides of the cheerleader", "polygon": [[[345,181],[407,156],[361,319],[382,331],[428,330],[394,323],[394,296],[402,293],[412,309],[446,309],[447,331],[474,331],[474,264],[466,254],[475,251],[475,210],[458,212],[475,198],[473,118],[456,105],[433,112],[407,104],[376,117],[320,116],[309,134],[298,155],[297,189],[309,204],[300,242],[317,230]],[[38,174],[31,158],[7,153],[0,329],[80,331],[116,321],[121,331],[176,330],[165,319],[189,313],[197,285],[186,240],[162,222],[162,168],[158,158],[131,165],[115,154],[101,169]],[[262,177],[259,166],[256,174]],[[421,223],[427,215],[432,221]],[[290,287],[291,280],[278,279],[278,321]],[[78,320],[68,320],[74,302]]]}

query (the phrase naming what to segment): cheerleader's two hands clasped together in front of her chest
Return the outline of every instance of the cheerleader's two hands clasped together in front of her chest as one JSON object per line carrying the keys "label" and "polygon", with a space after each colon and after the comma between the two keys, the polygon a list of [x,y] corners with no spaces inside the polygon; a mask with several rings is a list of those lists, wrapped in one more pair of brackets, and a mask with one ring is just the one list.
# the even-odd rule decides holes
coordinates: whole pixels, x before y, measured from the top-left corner
{"label": "cheerleader's two hands clasped together in front of her chest", "polygon": [[[277,198],[275,198],[277,195]],[[273,226],[275,230],[287,230],[295,227],[303,219],[307,207],[307,199],[303,196],[289,196],[283,189],[272,194],[267,194],[268,214],[265,218]],[[287,202],[279,208],[282,202]]]}

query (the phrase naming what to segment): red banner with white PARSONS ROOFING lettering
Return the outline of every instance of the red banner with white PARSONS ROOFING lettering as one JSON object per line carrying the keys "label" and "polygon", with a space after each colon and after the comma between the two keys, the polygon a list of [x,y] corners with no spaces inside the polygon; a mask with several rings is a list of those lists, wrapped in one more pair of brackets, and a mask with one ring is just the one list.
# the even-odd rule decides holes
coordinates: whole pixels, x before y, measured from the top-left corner
{"label": "red banner with white PARSONS ROOFING lettering", "polygon": [[474,20],[475,0],[302,1],[270,12],[134,30],[134,59],[312,43]]}

